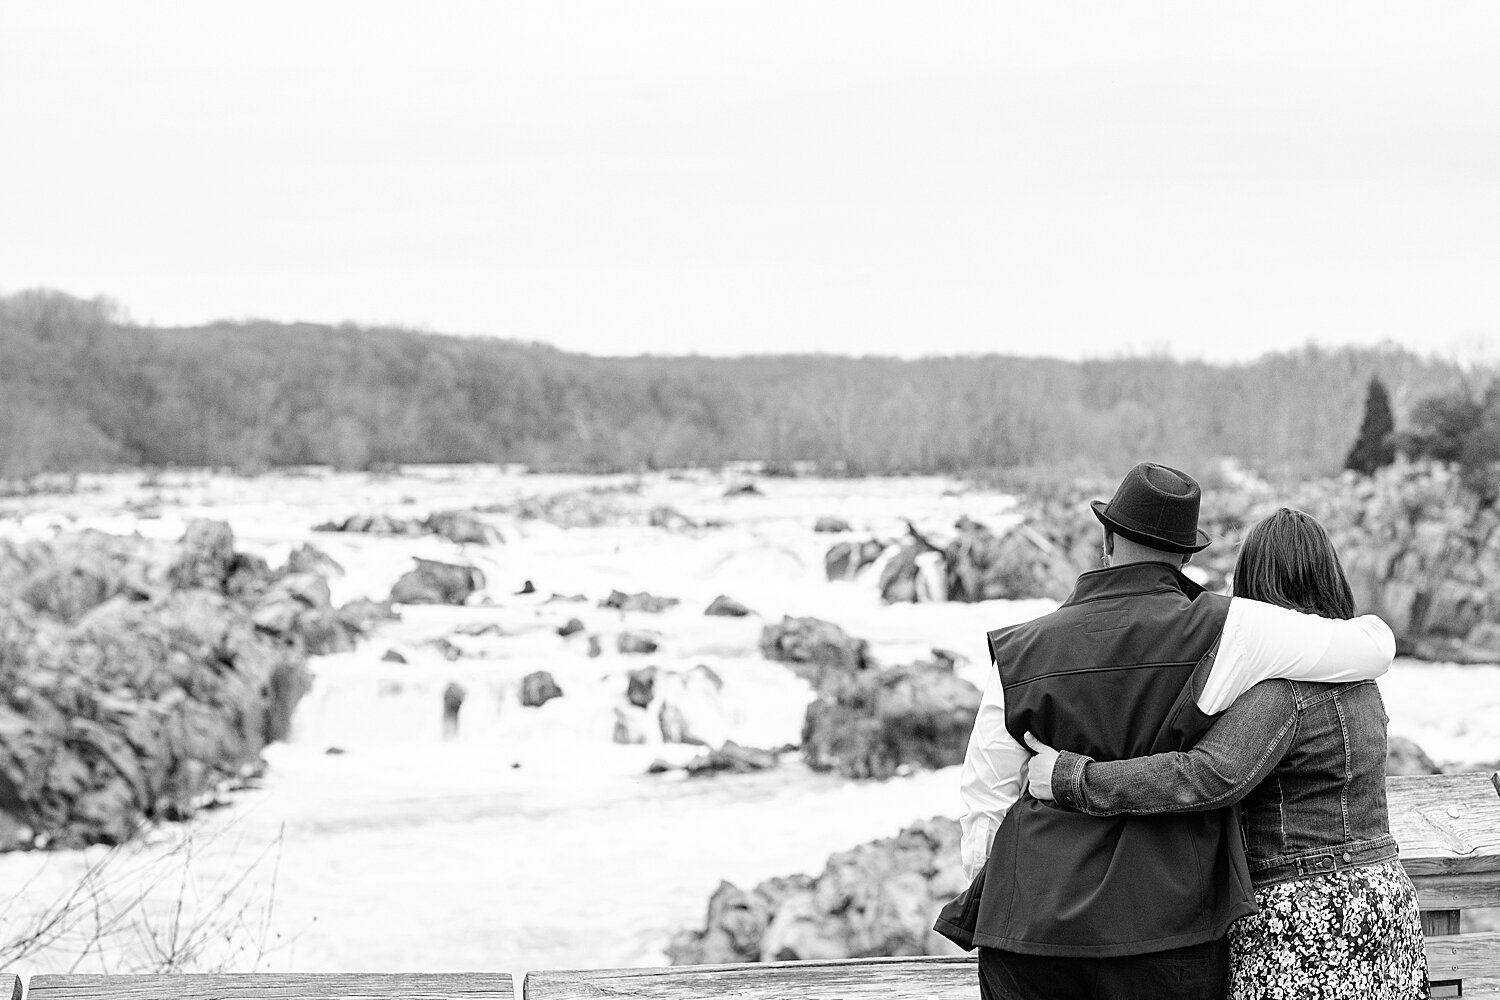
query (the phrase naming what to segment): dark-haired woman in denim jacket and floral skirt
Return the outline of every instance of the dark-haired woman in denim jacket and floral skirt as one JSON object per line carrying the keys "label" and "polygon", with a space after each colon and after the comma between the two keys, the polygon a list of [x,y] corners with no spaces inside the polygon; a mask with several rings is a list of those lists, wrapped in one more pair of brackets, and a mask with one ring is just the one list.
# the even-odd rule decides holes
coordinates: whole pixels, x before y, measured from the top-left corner
{"label": "dark-haired woman in denim jacket and floral skirt", "polygon": [[[1354,598],[1328,531],[1281,508],[1245,537],[1234,595],[1323,618]],[[1416,889],[1386,810],[1386,711],[1374,681],[1263,681],[1188,751],[1134,760],[1038,753],[1030,792],[1095,816],[1244,802],[1260,912],[1230,927],[1230,996],[1426,996]],[[1149,906],[1149,901],[1142,901]]]}

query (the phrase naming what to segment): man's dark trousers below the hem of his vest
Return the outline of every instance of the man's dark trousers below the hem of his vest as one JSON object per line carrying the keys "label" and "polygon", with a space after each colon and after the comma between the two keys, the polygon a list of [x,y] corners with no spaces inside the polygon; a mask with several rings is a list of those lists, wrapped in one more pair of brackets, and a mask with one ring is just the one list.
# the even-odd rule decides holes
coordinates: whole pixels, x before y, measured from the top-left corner
{"label": "man's dark trousers below the hem of his vest", "polygon": [[1228,996],[1228,939],[1118,958],[980,949],[982,1000],[1158,1000]]}

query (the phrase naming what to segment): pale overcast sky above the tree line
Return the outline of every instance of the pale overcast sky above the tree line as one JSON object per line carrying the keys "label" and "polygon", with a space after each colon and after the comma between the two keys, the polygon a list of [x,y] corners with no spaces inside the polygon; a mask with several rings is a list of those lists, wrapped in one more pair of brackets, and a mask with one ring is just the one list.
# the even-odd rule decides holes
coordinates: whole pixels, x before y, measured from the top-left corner
{"label": "pale overcast sky above the tree line", "polygon": [[1500,4],[4,3],[0,289],[597,354],[1500,343]]}

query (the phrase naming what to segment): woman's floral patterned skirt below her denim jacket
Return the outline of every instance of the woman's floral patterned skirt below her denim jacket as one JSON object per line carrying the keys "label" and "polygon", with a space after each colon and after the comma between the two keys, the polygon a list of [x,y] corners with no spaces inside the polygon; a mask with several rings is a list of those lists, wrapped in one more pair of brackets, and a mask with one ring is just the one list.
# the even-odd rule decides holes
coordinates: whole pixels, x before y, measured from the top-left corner
{"label": "woman's floral patterned skirt below her denim jacket", "polygon": [[1426,997],[1416,889],[1400,861],[1256,889],[1228,930],[1234,1000]]}

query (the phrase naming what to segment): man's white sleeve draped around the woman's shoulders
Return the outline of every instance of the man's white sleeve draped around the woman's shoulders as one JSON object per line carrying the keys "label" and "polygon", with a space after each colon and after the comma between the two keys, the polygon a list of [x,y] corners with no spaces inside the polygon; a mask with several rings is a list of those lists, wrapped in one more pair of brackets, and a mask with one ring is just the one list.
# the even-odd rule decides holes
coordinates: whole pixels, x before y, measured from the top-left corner
{"label": "man's white sleeve draped around the woman's shoulders", "polygon": [[1230,598],[1218,655],[1198,708],[1209,715],[1262,681],[1374,681],[1390,669],[1396,640],[1374,615],[1344,621]]}

